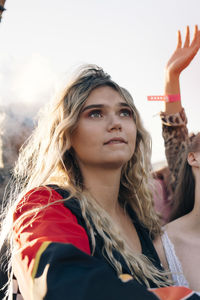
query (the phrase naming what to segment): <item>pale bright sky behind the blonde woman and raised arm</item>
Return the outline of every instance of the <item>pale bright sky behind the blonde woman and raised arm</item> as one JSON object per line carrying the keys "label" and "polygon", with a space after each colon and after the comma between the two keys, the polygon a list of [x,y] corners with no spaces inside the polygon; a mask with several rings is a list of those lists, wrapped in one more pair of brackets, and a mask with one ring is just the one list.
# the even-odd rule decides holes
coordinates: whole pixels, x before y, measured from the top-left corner
{"label": "pale bright sky behind the blonde woman and raised arm", "polygon": [[[165,159],[161,122],[164,66],[177,30],[200,27],[200,0],[7,0],[0,25],[0,104],[30,110],[55,94],[82,63],[127,88],[151,133],[152,162]],[[181,76],[190,131],[199,130],[200,54]],[[20,111],[22,113],[22,111]]]}

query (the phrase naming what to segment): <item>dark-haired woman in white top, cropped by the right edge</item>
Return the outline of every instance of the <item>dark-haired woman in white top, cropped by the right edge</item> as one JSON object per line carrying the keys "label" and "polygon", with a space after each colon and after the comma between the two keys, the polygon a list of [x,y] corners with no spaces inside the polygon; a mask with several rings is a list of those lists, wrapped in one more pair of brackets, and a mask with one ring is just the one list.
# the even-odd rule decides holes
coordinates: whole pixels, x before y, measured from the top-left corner
{"label": "dark-haired woman in white top, cropped by the right edge", "polygon": [[171,220],[155,246],[174,284],[200,295],[200,134],[188,145],[179,174]]}

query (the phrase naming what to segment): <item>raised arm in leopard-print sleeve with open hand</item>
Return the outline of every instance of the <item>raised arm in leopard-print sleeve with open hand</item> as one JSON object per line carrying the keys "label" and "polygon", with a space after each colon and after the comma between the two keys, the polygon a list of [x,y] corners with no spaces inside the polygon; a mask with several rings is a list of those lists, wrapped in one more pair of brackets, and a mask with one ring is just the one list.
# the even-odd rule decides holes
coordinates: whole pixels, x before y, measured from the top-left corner
{"label": "raised arm in leopard-print sleeve with open hand", "polygon": [[[185,41],[182,46],[181,33],[178,31],[177,47],[165,68],[165,95],[180,94],[180,74],[186,69],[200,48],[200,31],[195,26],[194,37],[190,42],[190,30],[187,26]],[[165,153],[170,169],[172,190],[175,189],[182,158],[187,147],[189,136],[187,118],[181,101],[166,102],[164,112],[160,114],[163,124]]]}

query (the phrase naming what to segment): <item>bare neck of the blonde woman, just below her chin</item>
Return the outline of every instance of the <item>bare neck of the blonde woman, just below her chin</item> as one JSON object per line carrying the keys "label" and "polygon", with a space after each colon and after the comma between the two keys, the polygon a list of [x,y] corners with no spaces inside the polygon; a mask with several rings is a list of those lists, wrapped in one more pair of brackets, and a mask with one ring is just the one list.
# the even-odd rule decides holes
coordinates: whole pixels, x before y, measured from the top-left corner
{"label": "bare neck of the blonde woman, just below her chin", "polygon": [[118,195],[121,170],[101,168],[94,170],[87,167],[87,169],[82,168],[81,171],[87,191],[110,216],[115,216],[119,210]]}

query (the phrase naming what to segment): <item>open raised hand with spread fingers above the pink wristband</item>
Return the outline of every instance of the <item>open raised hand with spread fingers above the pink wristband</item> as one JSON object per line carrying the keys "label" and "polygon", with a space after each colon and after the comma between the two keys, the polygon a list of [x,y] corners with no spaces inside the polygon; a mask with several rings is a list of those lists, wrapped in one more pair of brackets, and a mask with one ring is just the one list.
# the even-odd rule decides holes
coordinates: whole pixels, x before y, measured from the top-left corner
{"label": "open raised hand with spread fingers above the pink wristband", "polygon": [[190,43],[190,29],[186,28],[185,42],[182,46],[181,33],[178,31],[178,42],[175,52],[166,65],[166,73],[172,76],[179,76],[180,73],[191,63],[200,48],[200,30],[195,25],[194,37]]}

